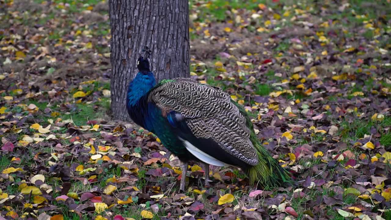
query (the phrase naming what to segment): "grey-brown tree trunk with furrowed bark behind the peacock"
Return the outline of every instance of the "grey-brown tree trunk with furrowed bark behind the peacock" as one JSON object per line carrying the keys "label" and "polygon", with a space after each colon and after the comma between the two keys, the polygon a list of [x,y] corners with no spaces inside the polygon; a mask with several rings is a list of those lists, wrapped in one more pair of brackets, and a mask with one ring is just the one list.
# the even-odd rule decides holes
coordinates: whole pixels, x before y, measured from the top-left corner
{"label": "grey-brown tree trunk with furrowed bark behind the peacock", "polygon": [[152,50],[156,80],[190,75],[189,7],[187,0],[109,0],[111,25],[111,113],[130,120],[127,85],[137,74],[137,59]]}

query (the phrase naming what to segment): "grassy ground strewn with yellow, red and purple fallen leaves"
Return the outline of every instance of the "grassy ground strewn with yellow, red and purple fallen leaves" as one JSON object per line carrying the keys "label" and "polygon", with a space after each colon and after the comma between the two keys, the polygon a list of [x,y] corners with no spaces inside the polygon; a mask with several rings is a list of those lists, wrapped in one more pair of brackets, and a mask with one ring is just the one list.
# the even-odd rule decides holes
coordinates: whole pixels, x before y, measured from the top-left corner
{"label": "grassy ground strewn with yellow, red and purple fallen leaves", "polygon": [[205,188],[193,163],[185,193],[159,139],[109,117],[107,4],[0,0],[0,219],[391,219],[389,0],[191,0],[191,77],[298,186],[212,167]]}

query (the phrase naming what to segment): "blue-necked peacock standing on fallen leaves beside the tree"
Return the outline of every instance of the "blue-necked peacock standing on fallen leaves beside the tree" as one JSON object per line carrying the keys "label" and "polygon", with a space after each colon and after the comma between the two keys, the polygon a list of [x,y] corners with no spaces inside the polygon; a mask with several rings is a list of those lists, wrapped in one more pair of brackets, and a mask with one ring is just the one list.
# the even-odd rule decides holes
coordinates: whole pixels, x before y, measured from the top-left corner
{"label": "blue-necked peacock standing on fallen leaves beside the tree", "polygon": [[138,58],[139,72],[127,90],[127,111],[179,158],[182,191],[190,160],[204,165],[205,185],[210,182],[209,165],[239,167],[251,184],[259,182],[264,187],[292,183],[289,172],[259,143],[241,105],[221,88],[190,78],[156,84],[148,58]]}

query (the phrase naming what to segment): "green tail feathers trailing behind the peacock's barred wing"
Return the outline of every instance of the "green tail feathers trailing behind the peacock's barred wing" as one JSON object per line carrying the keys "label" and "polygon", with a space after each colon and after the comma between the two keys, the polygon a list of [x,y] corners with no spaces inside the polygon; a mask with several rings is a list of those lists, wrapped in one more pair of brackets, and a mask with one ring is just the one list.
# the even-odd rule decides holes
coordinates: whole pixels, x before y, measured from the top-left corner
{"label": "green tail feathers trailing behind the peacock's barred wing", "polygon": [[253,123],[248,117],[246,110],[237,102],[231,100],[235,104],[242,115],[246,117],[246,125],[250,129],[250,140],[258,154],[258,164],[247,170],[247,175],[251,184],[259,182],[263,187],[277,187],[292,184],[289,172],[278,164],[277,160],[271,157],[269,151],[260,145],[258,137],[254,132]]}

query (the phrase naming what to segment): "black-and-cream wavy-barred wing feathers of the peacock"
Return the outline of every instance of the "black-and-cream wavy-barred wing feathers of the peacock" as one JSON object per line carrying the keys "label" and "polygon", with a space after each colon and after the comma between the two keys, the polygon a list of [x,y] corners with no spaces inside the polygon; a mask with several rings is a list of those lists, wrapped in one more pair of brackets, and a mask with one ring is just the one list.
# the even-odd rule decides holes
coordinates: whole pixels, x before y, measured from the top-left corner
{"label": "black-and-cream wavy-barred wing feathers of the peacock", "polygon": [[176,78],[159,84],[148,98],[163,115],[171,111],[180,113],[195,137],[212,139],[222,150],[246,164],[258,163],[246,118],[221,88]]}

